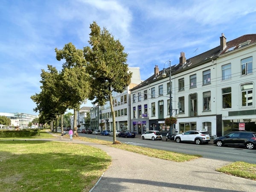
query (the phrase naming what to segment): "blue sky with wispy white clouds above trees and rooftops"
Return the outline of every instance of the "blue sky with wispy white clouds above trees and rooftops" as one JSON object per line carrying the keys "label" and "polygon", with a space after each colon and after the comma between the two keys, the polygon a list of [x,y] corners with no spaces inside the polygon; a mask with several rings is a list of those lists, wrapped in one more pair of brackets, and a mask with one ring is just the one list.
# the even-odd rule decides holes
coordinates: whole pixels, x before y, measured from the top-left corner
{"label": "blue sky with wispy white clouds above trees and rooftops", "polygon": [[[38,115],[41,70],[59,71],[55,48],[89,46],[90,23],[105,27],[142,80],[227,41],[256,33],[255,0],[0,0],[0,112]],[[90,101],[82,106],[93,106]]]}

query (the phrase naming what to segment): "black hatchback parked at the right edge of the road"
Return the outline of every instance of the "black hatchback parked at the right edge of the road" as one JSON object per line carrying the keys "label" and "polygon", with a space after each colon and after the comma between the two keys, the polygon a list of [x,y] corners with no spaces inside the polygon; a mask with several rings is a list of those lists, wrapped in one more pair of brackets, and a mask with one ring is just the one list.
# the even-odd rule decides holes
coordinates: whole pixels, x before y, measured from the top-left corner
{"label": "black hatchback parked at the right edge of the road", "polygon": [[216,137],[213,143],[219,147],[232,145],[253,149],[256,148],[256,132],[233,131],[223,137]]}

